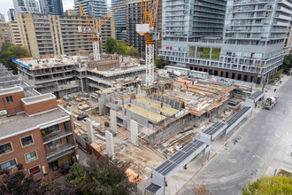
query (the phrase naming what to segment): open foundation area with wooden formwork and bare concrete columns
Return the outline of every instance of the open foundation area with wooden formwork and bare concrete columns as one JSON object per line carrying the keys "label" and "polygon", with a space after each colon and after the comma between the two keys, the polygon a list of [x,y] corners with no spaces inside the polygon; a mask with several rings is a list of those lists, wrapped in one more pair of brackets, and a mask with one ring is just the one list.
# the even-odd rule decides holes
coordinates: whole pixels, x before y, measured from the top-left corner
{"label": "open foundation area with wooden formwork and bare concrete columns", "polygon": [[205,129],[230,121],[250,92],[246,86],[184,76],[158,79],[150,87],[80,91],[58,104],[73,113],[76,141],[83,148],[90,144],[102,155],[130,162],[135,173],[150,175]]}

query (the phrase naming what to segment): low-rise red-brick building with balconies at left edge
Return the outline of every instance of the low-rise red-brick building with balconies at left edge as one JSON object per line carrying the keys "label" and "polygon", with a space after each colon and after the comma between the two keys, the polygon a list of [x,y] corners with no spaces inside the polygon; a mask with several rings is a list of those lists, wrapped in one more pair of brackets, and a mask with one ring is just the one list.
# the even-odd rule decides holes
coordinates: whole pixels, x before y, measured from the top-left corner
{"label": "low-rise red-brick building with balconies at left edge", "polygon": [[20,87],[0,90],[0,170],[21,163],[40,179],[42,167],[58,173],[76,155],[72,114],[54,95],[25,98]]}

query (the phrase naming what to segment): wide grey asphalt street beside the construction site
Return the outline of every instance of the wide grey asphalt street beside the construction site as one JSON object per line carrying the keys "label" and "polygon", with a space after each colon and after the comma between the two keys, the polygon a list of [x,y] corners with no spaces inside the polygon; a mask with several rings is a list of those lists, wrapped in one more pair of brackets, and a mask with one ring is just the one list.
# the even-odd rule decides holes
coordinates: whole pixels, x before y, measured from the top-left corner
{"label": "wide grey asphalt street beside the construction site", "polygon": [[[273,175],[274,168],[281,166],[281,159],[289,158],[286,164],[291,168],[292,157],[285,152],[292,144],[291,89],[292,79],[288,79],[276,91],[280,101],[273,110],[257,108],[242,129],[228,140],[226,147],[177,194],[193,194],[193,187],[200,183],[204,183],[215,195],[242,194],[242,186],[256,181],[265,173]],[[273,167],[274,161],[277,163]]]}

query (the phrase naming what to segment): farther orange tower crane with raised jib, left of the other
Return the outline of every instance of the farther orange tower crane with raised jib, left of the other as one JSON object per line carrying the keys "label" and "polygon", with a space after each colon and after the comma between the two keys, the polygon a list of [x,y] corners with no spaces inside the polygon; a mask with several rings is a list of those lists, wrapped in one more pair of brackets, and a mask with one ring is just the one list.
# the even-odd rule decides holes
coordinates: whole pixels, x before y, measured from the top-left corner
{"label": "farther orange tower crane with raised jib, left of the other", "polygon": [[[93,43],[93,58],[94,60],[100,60],[100,49],[99,49],[99,39],[100,39],[100,29],[101,27],[104,25],[104,23],[108,20],[111,19],[111,17],[119,11],[119,9],[127,4],[128,0],[121,0],[119,2],[119,4],[117,4],[116,6],[114,6],[113,8],[111,8],[111,11],[108,12],[106,15],[102,16],[100,20],[98,20],[96,22],[95,25],[95,19],[92,18],[88,18],[87,14],[85,13],[85,11],[83,10],[83,7],[81,5],[81,3],[79,3],[79,14],[82,17],[82,15],[84,14],[84,16],[86,17],[86,22],[85,24],[82,24],[82,20],[81,20],[81,26],[78,27],[78,33],[80,35],[92,35],[92,43]],[[96,27],[94,27],[96,26]]]}

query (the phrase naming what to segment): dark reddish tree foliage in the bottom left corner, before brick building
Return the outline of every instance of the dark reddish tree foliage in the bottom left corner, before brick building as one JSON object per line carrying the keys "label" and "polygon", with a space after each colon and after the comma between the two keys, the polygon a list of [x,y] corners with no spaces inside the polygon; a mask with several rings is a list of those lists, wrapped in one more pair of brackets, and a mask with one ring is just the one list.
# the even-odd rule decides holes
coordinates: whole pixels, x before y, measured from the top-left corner
{"label": "dark reddish tree foliage in the bottom left corner, before brick building", "polygon": [[42,183],[34,179],[33,175],[26,177],[22,164],[17,165],[18,171],[11,175],[11,171],[4,169],[0,171],[0,194],[19,195],[19,194],[38,194],[38,195],[71,195],[76,194],[75,189],[70,185],[56,185]]}

